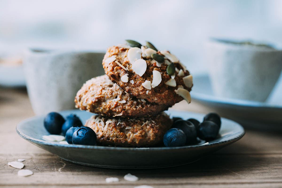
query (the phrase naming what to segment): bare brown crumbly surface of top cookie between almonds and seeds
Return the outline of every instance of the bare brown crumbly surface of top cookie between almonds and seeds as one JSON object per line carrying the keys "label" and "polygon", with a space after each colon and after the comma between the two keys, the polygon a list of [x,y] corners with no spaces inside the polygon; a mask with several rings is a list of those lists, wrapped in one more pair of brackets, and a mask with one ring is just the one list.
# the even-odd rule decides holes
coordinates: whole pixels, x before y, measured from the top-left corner
{"label": "bare brown crumbly surface of top cookie between almonds and seeds", "polygon": [[[186,87],[183,81],[183,77],[190,75],[189,71],[186,70],[186,68],[183,67],[180,63],[174,63],[177,70],[182,69],[184,75],[179,76],[177,71],[175,71],[175,82],[176,87],[168,86],[165,83],[171,79],[171,76],[169,76],[166,72],[166,69],[168,67],[168,63],[162,63],[160,67],[157,66],[158,62],[150,57],[141,57],[142,59],[146,60],[147,69],[146,72],[139,76],[136,74],[133,69],[132,65],[129,62],[129,59],[127,57],[128,48],[125,48],[123,46],[112,46],[107,49],[107,52],[103,59],[103,68],[105,69],[105,73],[109,76],[111,81],[116,82],[123,90],[125,90],[127,93],[132,94],[136,98],[140,99],[146,99],[147,101],[151,103],[158,103],[158,104],[165,104],[168,106],[172,106],[175,103],[178,103],[183,100],[181,96],[176,94],[175,90],[178,89],[178,87],[184,87],[184,89],[191,91],[191,87]],[[157,52],[157,54],[162,55],[160,51]],[[106,61],[109,57],[116,56],[115,60],[112,62]],[[163,56],[163,55],[162,55]],[[118,61],[123,67],[125,67],[125,70],[123,67],[119,66],[115,61]],[[166,62],[171,63],[168,59],[166,59]],[[150,81],[152,83],[153,81],[153,70],[157,70],[161,73],[162,81],[160,84],[152,88],[151,90],[146,89],[142,83],[144,83],[146,80]],[[133,82],[123,82],[121,80],[121,77],[125,74],[128,74],[129,81],[133,80]]]}

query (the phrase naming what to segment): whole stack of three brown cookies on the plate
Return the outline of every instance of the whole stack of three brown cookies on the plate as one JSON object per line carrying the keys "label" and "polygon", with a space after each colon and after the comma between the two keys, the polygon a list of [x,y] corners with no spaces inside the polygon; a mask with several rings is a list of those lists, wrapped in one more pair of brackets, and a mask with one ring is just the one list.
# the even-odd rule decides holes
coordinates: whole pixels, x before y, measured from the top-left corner
{"label": "whole stack of three brown cookies on the plate", "polygon": [[75,97],[76,108],[99,115],[87,122],[100,145],[148,147],[162,143],[172,120],[163,111],[191,102],[192,75],[169,51],[151,43],[109,47],[106,75],[88,80]]}

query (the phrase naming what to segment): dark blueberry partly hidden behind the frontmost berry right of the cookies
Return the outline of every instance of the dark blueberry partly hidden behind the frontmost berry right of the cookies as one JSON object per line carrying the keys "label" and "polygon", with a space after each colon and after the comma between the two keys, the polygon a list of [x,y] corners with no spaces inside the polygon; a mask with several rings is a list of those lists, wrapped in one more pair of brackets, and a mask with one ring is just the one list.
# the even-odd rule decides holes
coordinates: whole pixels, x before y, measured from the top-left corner
{"label": "dark blueberry partly hidden behind the frontmost berry right of the cookies", "polygon": [[175,121],[173,128],[182,130],[186,135],[186,144],[193,143],[196,141],[197,132],[196,128],[190,121],[177,120]]}

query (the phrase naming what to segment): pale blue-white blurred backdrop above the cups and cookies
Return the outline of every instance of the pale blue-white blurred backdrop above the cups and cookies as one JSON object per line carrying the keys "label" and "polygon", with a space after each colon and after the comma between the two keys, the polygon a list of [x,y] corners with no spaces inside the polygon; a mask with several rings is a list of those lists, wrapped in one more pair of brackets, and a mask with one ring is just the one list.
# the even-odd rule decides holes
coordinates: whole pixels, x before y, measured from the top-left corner
{"label": "pale blue-white blurred backdrop above the cups and cookies", "polygon": [[105,51],[124,39],[149,40],[197,74],[207,71],[209,37],[282,43],[281,7],[280,0],[1,0],[0,55],[28,47]]}

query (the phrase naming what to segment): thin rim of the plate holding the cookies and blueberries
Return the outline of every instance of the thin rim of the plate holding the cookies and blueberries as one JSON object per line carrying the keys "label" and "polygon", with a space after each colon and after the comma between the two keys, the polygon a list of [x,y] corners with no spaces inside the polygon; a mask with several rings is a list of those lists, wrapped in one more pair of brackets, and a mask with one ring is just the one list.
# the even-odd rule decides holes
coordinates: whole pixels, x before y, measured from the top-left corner
{"label": "thin rim of the plate holding the cookies and blueberries", "polygon": [[[63,110],[61,112],[68,112],[68,111],[73,111],[73,110],[78,110],[78,109],[72,109],[72,110]],[[79,110],[78,110],[79,111]],[[189,112],[185,110],[172,110],[170,109],[169,111],[178,111],[178,112],[187,112],[187,113],[194,113],[194,114],[201,114],[201,113],[195,113],[195,112]],[[203,115],[203,114],[201,114]],[[23,124],[25,124],[27,121],[32,121],[37,118],[43,118],[44,116],[33,116],[30,118],[27,118],[21,122],[19,122],[16,126],[16,132],[21,136],[21,138],[35,143],[35,144],[41,144],[41,145],[49,145],[49,146],[60,146],[60,147],[73,147],[73,148],[80,148],[80,149],[98,149],[98,150],[117,150],[117,151],[163,151],[163,150],[179,150],[179,149],[195,149],[195,148],[206,148],[206,147],[216,147],[216,146],[221,146],[221,145],[227,145],[231,144],[237,140],[240,140],[244,135],[245,135],[245,130],[242,125],[239,123],[227,119],[227,118],[222,118],[224,120],[231,121],[236,124],[239,128],[241,128],[241,133],[237,136],[235,136],[232,139],[228,139],[225,141],[218,141],[215,143],[208,143],[208,144],[202,144],[202,145],[186,145],[186,146],[179,146],[179,147],[143,147],[143,148],[137,148],[137,147],[113,147],[113,146],[97,146],[97,145],[79,145],[79,144],[63,144],[63,143],[56,143],[56,142],[49,142],[45,140],[39,140],[37,138],[32,138],[30,136],[27,136],[19,131],[19,127]]]}

